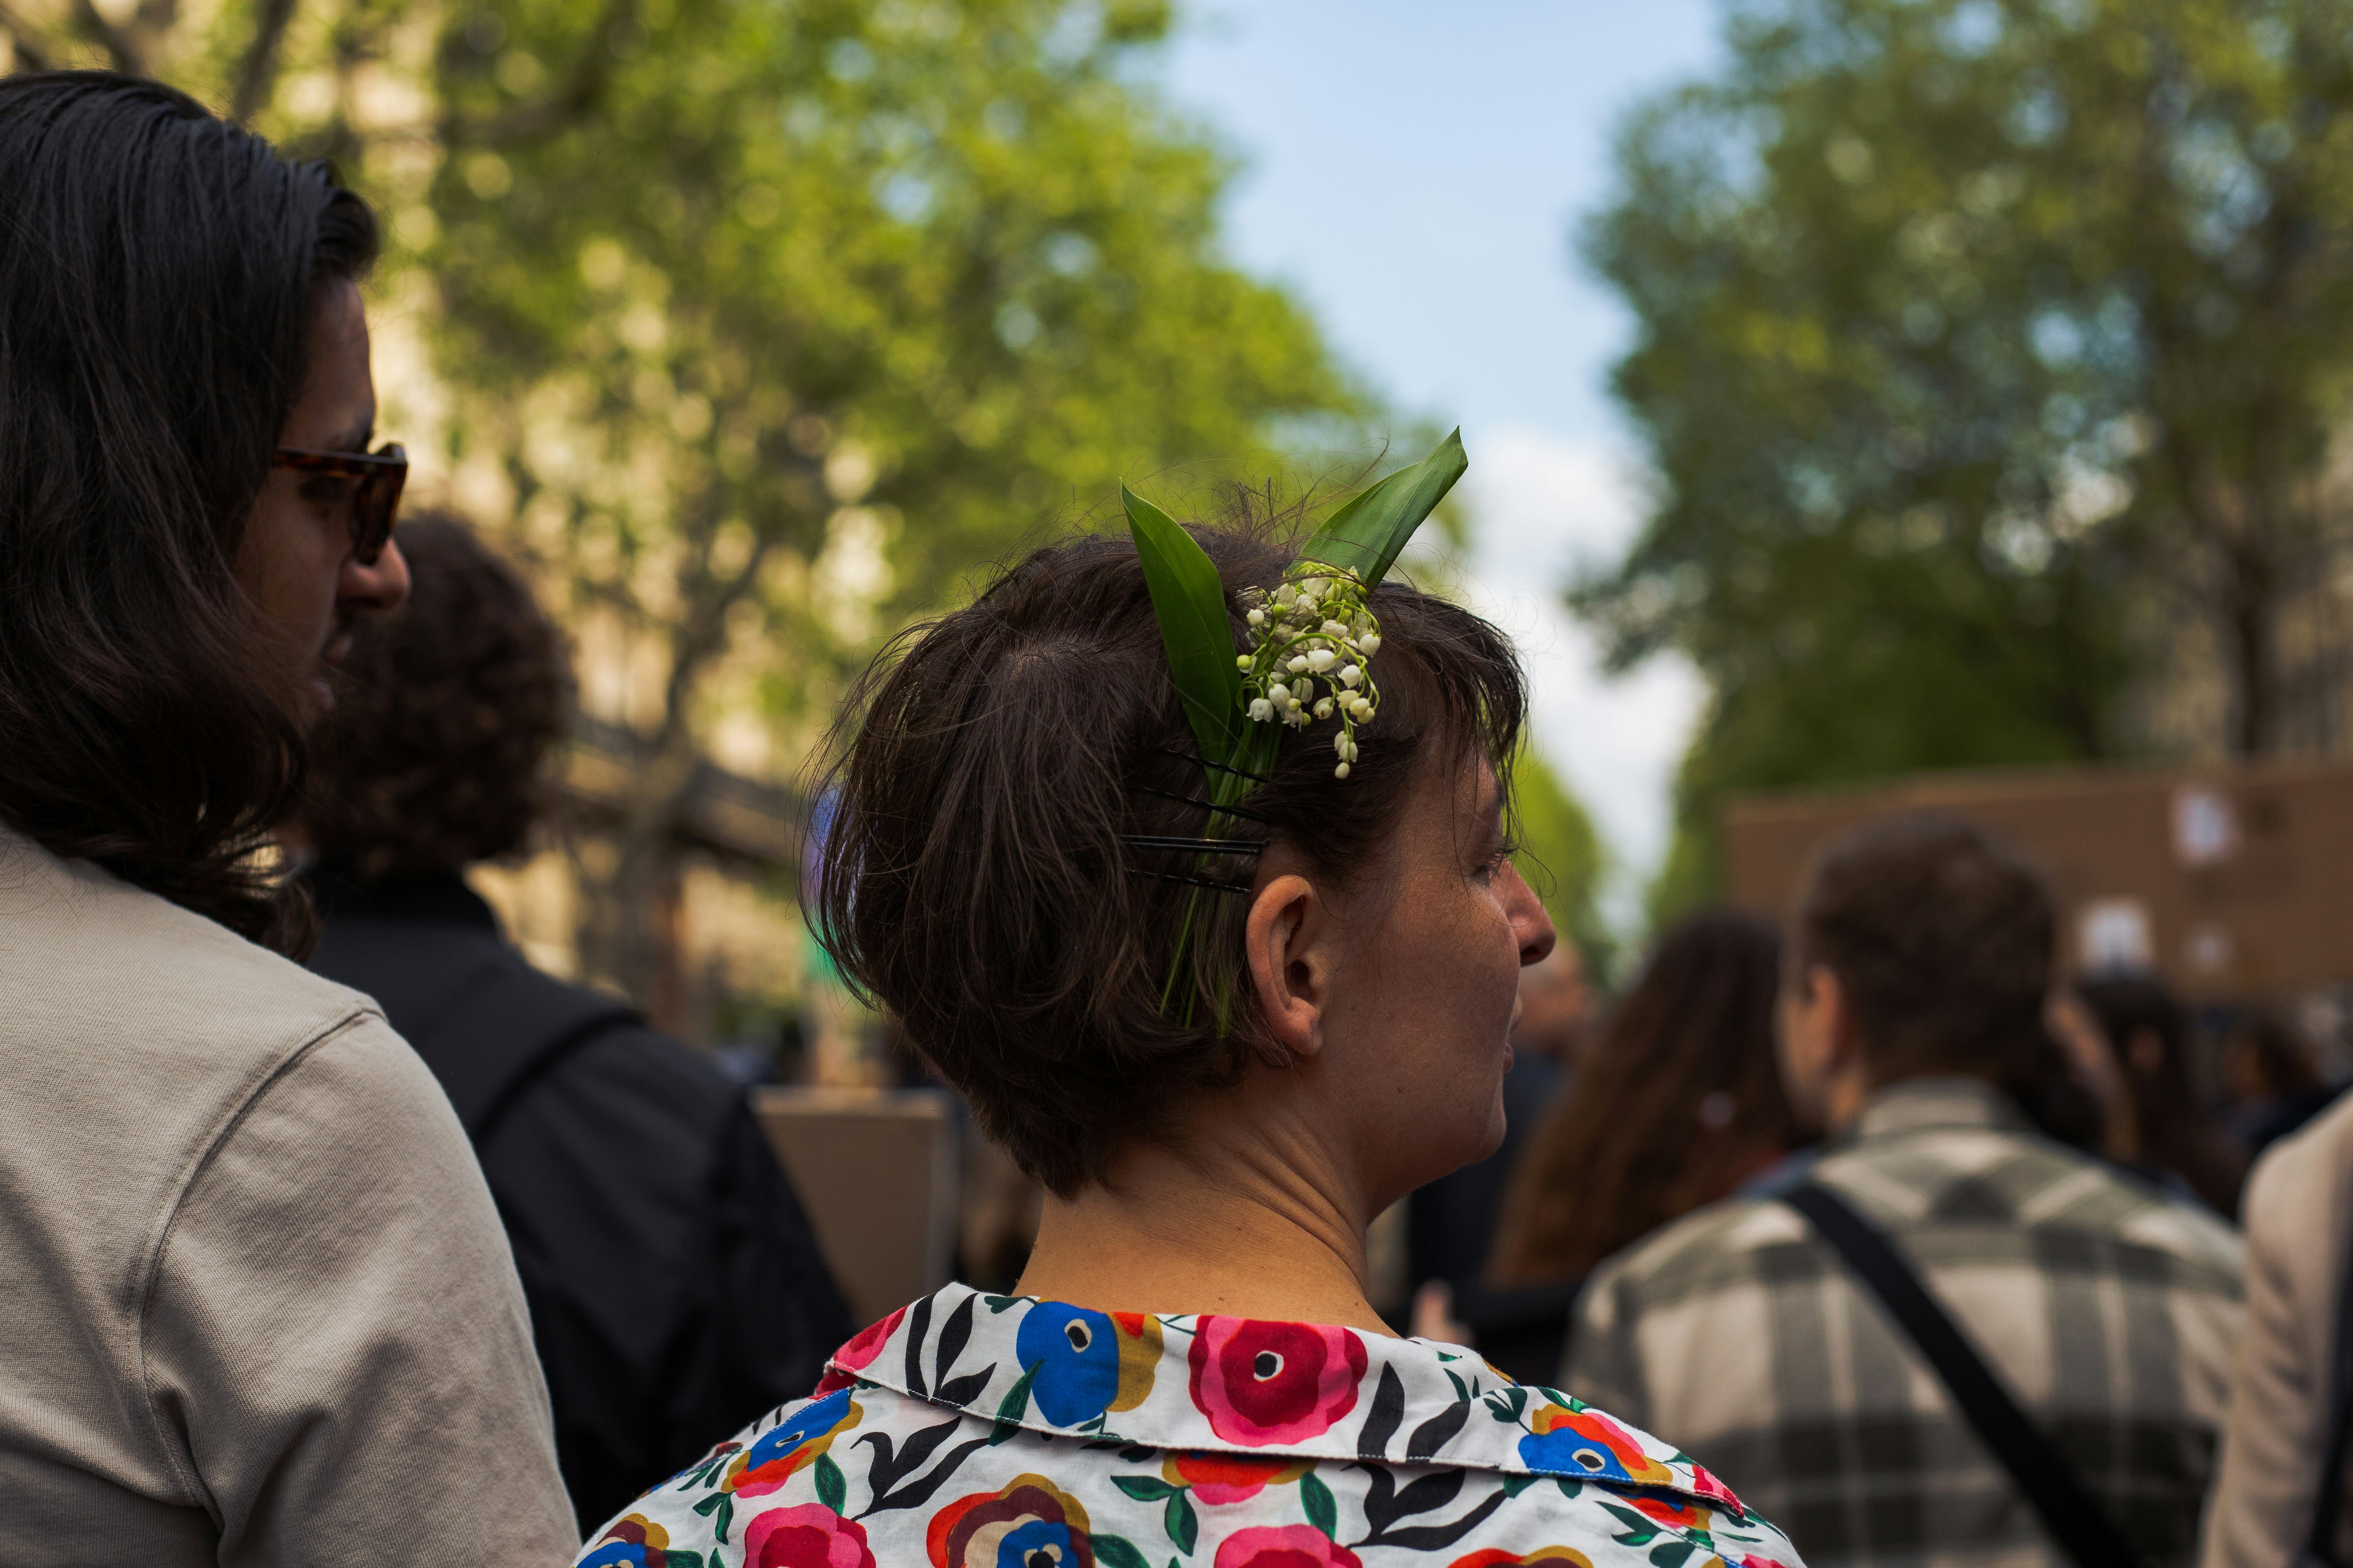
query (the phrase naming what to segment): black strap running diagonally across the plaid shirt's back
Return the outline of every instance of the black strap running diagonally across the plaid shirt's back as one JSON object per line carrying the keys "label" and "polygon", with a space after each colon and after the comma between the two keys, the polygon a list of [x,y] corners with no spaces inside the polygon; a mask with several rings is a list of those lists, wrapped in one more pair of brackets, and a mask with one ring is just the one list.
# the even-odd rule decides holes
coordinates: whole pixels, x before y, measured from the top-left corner
{"label": "black strap running diagonally across the plaid shirt's back", "polygon": [[1986,1453],[2009,1472],[2042,1519],[2042,1528],[2075,1568],[2139,1568],[2141,1554],[2125,1542],[2108,1512],[2092,1500],[2075,1467],[2042,1436],[1986,1359],[1969,1347],[1960,1326],[1937,1305],[1897,1248],[1845,1199],[1821,1182],[1781,1194],[1828,1241],[1911,1342],[1937,1368],[1953,1403]]}

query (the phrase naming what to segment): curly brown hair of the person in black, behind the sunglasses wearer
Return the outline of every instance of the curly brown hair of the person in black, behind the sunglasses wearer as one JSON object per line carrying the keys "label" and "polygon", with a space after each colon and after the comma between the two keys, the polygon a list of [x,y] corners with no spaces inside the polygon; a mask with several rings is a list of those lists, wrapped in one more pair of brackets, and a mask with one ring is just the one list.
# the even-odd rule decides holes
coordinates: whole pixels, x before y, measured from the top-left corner
{"label": "curly brown hair of the person in black, behind the sunglasses wearer", "polygon": [[355,882],[522,849],[572,710],[565,639],[513,567],[447,512],[402,522],[400,552],[409,602],[353,628],[301,813]]}

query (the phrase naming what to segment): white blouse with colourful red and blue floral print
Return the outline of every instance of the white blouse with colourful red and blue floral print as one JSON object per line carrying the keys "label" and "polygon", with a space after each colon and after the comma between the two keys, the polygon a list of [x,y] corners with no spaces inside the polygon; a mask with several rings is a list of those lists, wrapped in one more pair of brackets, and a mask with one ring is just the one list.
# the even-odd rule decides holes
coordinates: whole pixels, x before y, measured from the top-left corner
{"label": "white blouse with colourful red and blue floral print", "polygon": [[1431,1340],[948,1286],[581,1568],[1798,1568],[1715,1476]]}

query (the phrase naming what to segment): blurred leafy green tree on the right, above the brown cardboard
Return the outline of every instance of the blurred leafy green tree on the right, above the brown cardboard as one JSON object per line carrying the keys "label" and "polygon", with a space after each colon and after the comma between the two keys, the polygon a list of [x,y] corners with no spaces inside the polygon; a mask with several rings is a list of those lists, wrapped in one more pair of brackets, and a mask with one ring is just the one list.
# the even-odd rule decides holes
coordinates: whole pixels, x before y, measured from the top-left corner
{"label": "blurred leafy green tree on the right, above the brown cardboard", "polygon": [[2348,31],[2344,0],[1760,0],[1720,80],[1633,115],[1586,254],[1638,317],[1617,393],[1664,501],[1572,599],[1715,689],[1661,907],[1713,886],[1722,790],[2148,743],[2125,696],[2184,642],[2214,750],[2299,738]]}

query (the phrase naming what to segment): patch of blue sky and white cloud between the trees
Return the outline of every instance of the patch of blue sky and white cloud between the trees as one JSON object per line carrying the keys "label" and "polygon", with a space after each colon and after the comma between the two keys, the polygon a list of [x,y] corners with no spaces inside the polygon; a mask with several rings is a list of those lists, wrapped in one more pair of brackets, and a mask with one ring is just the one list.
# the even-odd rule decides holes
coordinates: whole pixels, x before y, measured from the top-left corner
{"label": "patch of blue sky and white cloud between the trees", "polygon": [[1633,896],[1701,701],[1654,661],[1624,679],[1558,609],[1579,559],[1640,522],[1638,449],[1607,395],[1628,341],[1574,259],[1624,110],[1720,59],[1713,0],[1191,0],[1169,96],[1242,160],[1226,242],[1285,282],[1400,409],[1464,428],[1482,609],[1537,686],[1539,743]]}

